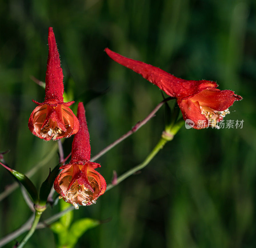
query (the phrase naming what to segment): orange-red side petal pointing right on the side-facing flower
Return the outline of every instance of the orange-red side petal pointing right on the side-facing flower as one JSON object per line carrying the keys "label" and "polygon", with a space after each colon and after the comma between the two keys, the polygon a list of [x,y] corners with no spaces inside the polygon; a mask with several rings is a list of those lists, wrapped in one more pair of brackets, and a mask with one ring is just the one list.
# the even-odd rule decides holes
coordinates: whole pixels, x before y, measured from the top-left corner
{"label": "orange-red side petal pointing right on the side-facing flower", "polygon": [[242,97],[231,90],[204,90],[196,94],[191,101],[198,101],[201,106],[206,106],[217,111],[228,109],[234,101],[242,100]]}

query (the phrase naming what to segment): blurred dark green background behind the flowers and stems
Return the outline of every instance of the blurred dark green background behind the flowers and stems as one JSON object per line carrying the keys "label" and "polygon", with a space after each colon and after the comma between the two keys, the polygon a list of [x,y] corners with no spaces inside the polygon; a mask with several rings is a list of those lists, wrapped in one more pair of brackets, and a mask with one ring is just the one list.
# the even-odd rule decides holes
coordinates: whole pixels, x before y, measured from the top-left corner
{"label": "blurred dark green background behind the flowers and stems", "polygon": [[[162,100],[156,86],[112,61],[105,47],[177,77],[217,81],[220,89],[244,97],[225,119],[244,120],[242,129],[182,127],[140,174],[106,192],[97,204],[73,211],[74,221],[108,220],[85,232],[76,247],[256,247],[255,1],[10,0],[1,1],[0,23],[0,151],[10,149],[5,161],[23,173],[48,158],[31,177],[37,187],[58,162],[56,143],[28,130],[36,107],[31,100],[44,100],[44,89],[30,76],[45,79],[49,26],[65,90],[86,103],[92,155]],[[163,129],[161,108],[98,159],[107,183],[113,170],[121,175],[142,162]],[[65,140],[65,155],[71,143],[72,138]],[[0,169],[3,192],[14,180]],[[42,220],[59,208],[48,208]],[[31,215],[20,189],[3,199],[0,209],[1,237]],[[36,230],[26,247],[55,245],[52,231],[44,228]]]}

